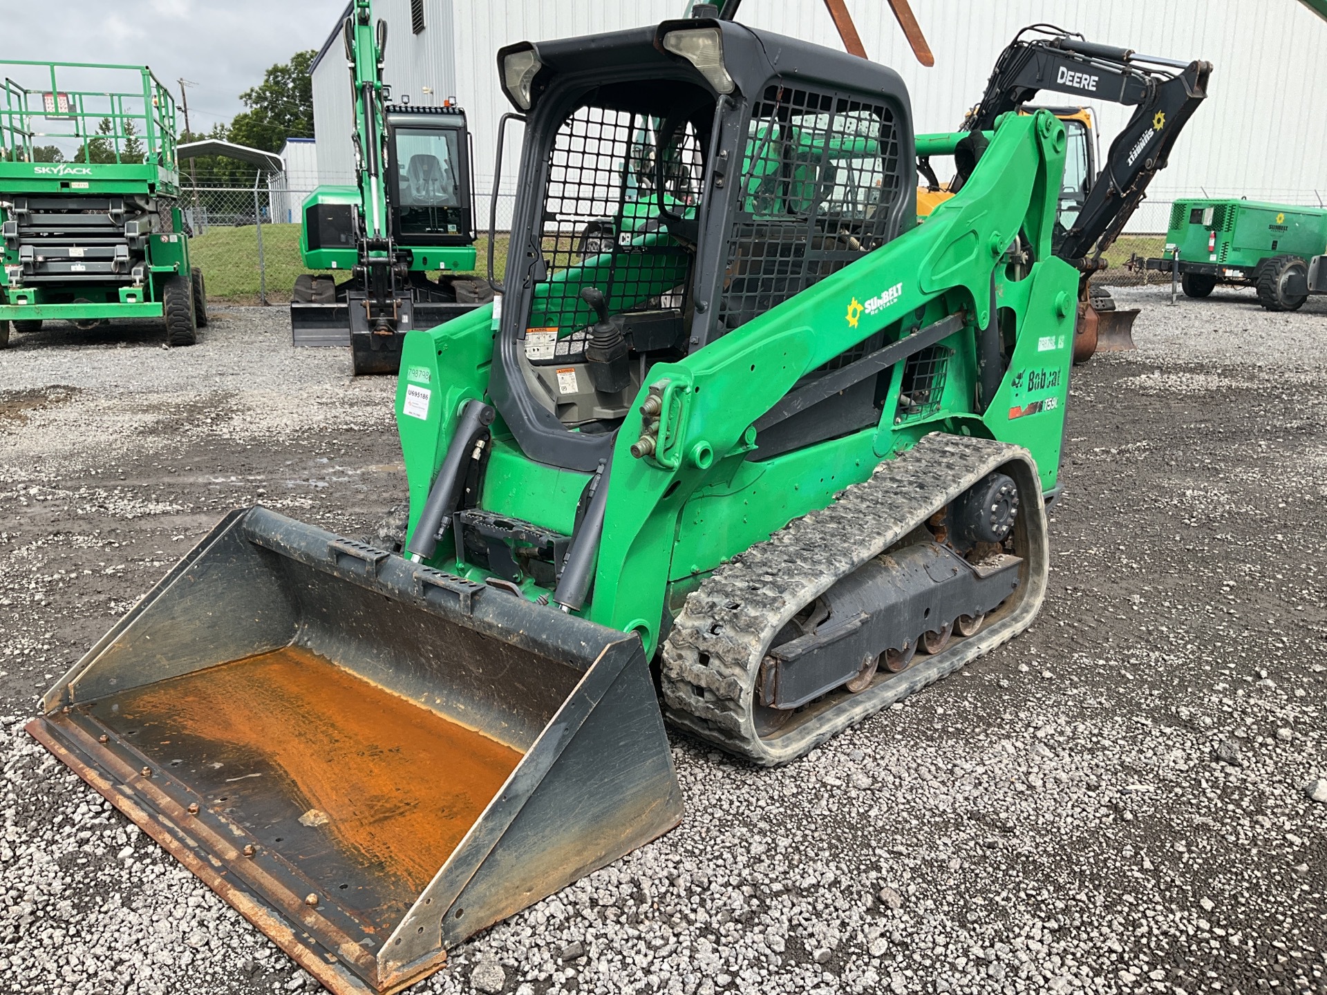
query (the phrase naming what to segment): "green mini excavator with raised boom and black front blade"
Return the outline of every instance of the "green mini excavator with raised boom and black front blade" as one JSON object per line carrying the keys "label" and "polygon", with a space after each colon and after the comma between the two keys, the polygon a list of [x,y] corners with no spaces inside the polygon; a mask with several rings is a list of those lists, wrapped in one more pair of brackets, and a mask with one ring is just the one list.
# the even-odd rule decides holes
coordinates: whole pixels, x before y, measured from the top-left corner
{"label": "green mini excavator with raised boom and black front blade", "polygon": [[492,300],[487,281],[456,276],[475,265],[470,133],[454,97],[390,102],[387,24],[369,0],[350,4],[342,34],[356,186],[318,187],[300,208],[304,265],[330,272],[296,279],[291,329],[297,346],[349,342],[356,374],[395,373],[407,332]]}

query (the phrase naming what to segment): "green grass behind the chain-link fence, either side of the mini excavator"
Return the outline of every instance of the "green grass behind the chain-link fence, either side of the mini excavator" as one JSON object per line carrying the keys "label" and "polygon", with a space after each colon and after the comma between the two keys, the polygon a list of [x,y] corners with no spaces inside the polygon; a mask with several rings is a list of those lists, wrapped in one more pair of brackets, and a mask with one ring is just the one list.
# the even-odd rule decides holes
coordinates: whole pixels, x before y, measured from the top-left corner
{"label": "green grass behind the chain-link fence, either side of the mini excavator", "polygon": [[[494,244],[494,272],[500,280],[507,269],[507,235],[499,235]],[[488,237],[479,236],[478,273],[487,271]],[[232,304],[255,302],[259,298],[257,233],[252,224],[239,228],[212,228],[190,240],[194,265],[203,271],[207,297]],[[268,301],[291,300],[291,288],[307,269],[300,259],[300,226],[264,224],[263,260],[267,269]],[[330,272],[330,271],[322,271]],[[437,273],[430,273],[437,277]]]}

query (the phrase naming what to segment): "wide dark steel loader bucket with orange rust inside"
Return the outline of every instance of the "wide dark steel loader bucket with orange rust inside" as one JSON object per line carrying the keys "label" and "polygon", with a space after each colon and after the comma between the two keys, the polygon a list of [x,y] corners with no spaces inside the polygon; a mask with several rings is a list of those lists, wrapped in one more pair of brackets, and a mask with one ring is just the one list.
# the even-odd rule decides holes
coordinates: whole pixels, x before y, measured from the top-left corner
{"label": "wide dark steel loader bucket with orange rust inside", "polygon": [[28,731],[337,995],[667,832],[640,639],[232,512]]}

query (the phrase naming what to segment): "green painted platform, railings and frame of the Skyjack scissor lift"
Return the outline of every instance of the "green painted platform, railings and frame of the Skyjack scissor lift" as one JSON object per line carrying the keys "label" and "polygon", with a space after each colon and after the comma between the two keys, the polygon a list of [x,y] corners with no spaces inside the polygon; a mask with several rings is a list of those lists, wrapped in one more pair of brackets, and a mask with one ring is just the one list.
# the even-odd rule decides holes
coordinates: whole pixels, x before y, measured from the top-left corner
{"label": "green painted platform, railings and frame of the Skyjack scissor lift", "polygon": [[[8,60],[0,61],[0,70],[5,73],[0,85],[0,223],[9,219],[3,203],[13,195],[179,195],[175,102],[151,69]],[[61,85],[62,78],[77,78],[80,70],[97,70],[101,80],[114,73],[117,89],[77,90]],[[11,76],[40,77],[42,88],[25,88]],[[48,100],[53,107],[48,107]],[[111,122],[109,134],[98,131],[104,121]],[[131,154],[126,129],[131,129],[131,137],[138,141],[141,157]],[[37,146],[58,145],[60,139],[80,143],[69,161],[35,162]],[[94,149],[100,154],[94,155]],[[179,208],[171,207],[170,219],[170,232],[154,233],[145,241],[147,279],[142,287],[123,281],[24,285],[21,279],[15,281],[5,271],[5,279],[0,280],[0,321],[161,317],[161,279],[190,272],[188,237]],[[15,244],[5,243],[0,256],[5,267],[19,265]]]}

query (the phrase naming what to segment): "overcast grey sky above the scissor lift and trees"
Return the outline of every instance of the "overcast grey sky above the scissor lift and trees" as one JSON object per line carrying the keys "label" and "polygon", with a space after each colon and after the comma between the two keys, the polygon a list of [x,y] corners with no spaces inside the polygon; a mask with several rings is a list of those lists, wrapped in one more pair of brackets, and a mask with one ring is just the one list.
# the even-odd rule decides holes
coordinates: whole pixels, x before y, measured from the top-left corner
{"label": "overcast grey sky above the scissor lift and trees", "polygon": [[[230,121],[239,94],[292,53],[321,48],[345,0],[0,0],[0,58],[147,64],[195,131]],[[183,121],[180,121],[183,125]]]}

